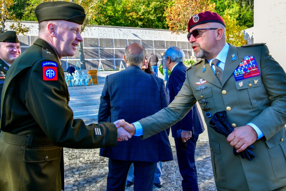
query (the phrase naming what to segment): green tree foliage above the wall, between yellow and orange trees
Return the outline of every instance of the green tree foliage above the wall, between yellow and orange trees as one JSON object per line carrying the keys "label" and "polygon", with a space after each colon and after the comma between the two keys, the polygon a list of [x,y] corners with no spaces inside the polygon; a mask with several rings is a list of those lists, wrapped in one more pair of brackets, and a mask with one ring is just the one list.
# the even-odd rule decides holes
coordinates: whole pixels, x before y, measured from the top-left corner
{"label": "green tree foliage above the wall, between yellow and orange trees", "polygon": [[169,0],[108,0],[91,24],[166,29],[164,8]]}

